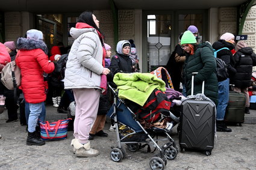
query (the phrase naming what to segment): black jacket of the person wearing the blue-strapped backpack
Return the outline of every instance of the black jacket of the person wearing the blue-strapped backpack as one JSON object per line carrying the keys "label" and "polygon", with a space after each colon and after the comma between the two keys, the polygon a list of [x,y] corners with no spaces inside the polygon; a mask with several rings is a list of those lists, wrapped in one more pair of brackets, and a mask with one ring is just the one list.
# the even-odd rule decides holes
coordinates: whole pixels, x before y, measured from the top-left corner
{"label": "black jacket of the person wearing the blue-strapped backpack", "polygon": [[219,52],[217,52],[217,58],[222,59],[223,61],[225,61],[226,65],[228,65],[229,77],[234,76],[234,74],[236,74],[237,72],[236,68],[234,68],[236,62],[230,51],[234,49],[234,45],[225,40],[219,40],[213,43],[213,49],[215,50],[222,49],[223,47],[227,47],[229,50],[228,49],[220,50]]}

